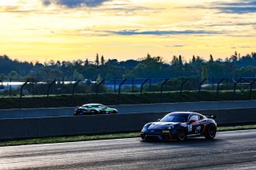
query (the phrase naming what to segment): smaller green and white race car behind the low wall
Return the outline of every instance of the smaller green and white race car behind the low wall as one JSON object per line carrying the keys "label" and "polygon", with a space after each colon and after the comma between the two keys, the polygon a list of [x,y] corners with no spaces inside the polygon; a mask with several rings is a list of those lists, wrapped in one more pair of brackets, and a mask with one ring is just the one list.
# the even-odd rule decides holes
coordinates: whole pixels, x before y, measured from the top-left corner
{"label": "smaller green and white race car behind the low wall", "polygon": [[109,108],[102,104],[86,104],[74,109],[74,115],[93,115],[118,113],[117,109]]}

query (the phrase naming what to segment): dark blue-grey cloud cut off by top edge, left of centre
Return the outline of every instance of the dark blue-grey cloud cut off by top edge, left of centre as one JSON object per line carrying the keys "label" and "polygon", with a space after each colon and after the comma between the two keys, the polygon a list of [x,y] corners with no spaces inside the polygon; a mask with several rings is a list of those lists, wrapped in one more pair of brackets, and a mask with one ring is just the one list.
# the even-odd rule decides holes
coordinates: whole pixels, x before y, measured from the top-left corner
{"label": "dark blue-grey cloud cut off by top edge, left of centre", "polygon": [[42,0],[43,5],[49,6],[50,4],[55,4],[58,6],[66,6],[69,8],[75,8],[79,6],[101,6],[103,2],[108,2],[110,0]]}

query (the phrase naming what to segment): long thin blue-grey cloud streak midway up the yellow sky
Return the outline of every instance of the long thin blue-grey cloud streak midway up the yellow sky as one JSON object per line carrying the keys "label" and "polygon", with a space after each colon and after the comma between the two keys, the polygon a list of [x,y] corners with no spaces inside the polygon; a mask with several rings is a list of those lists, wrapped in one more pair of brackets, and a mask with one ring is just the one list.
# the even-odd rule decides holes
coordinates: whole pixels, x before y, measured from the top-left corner
{"label": "long thin blue-grey cloud streak midway up the yellow sky", "polygon": [[206,30],[118,30],[118,31],[106,31],[110,34],[117,35],[176,35],[176,34],[221,34],[218,31],[206,31]]}

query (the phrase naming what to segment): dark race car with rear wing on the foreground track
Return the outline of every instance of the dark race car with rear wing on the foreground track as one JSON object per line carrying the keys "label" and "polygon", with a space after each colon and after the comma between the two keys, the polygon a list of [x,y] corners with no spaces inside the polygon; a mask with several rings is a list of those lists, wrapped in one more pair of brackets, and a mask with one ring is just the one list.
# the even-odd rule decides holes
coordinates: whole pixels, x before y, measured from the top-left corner
{"label": "dark race car with rear wing on the foreground track", "polygon": [[151,122],[142,128],[142,140],[186,140],[187,137],[205,136],[213,140],[217,132],[214,115],[194,112],[169,113],[158,122]]}

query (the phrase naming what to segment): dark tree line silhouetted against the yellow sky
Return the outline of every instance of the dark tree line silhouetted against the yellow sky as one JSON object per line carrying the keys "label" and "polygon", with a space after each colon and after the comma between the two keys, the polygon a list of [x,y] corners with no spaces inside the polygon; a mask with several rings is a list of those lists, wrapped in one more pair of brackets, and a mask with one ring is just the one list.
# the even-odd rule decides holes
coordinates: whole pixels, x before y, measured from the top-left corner
{"label": "dark tree line silhouetted against the yellow sky", "polygon": [[153,57],[149,53],[138,60],[106,60],[97,53],[95,61],[53,61],[45,63],[18,61],[7,55],[0,56],[0,81],[52,81],[55,78],[65,81],[75,79],[112,79],[112,78],[173,78],[173,77],[256,77],[256,53],[240,56],[235,52],[222,60],[210,54],[209,59],[193,56],[184,61],[181,55],[173,56],[170,63],[162,57]]}

